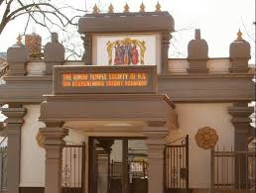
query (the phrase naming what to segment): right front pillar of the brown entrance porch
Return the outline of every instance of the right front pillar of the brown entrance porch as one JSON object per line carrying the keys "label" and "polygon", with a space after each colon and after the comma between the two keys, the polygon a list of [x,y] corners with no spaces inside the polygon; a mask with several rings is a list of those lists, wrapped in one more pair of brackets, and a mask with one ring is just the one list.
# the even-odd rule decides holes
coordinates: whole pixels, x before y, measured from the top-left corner
{"label": "right front pillar of the brown entrance porch", "polygon": [[143,128],[148,145],[148,193],[164,192],[164,148],[165,138],[169,133],[164,125],[165,123],[150,124],[149,127]]}

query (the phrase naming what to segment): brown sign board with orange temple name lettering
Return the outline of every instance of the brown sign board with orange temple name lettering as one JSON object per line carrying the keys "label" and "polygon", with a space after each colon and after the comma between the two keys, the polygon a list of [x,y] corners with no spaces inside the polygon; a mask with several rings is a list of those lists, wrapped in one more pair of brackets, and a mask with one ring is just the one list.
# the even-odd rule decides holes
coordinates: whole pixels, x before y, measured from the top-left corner
{"label": "brown sign board with orange temple name lettering", "polygon": [[[64,76],[65,74],[65,76]],[[104,77],[110,77],[111,74],[124,75],[128,77],[129,74],[137,74],[136,77],[140,77],[142,74],[146,74],[147,81],[146,85],[136,86],[64,86],[64,77],[67,77],[70,74],[70,77],[73,78],[73,74],[82,74],[86,76],[91,76],[91,74],[104,75]],[[110,74],[110,75],[109,75]],[[94,76],[91,76],[94,77]],[[130,77],[130,75],[129,75]],[[130,81],[131,79],[129,79]],[[75,81],[70,79],[68,81]],[[85,81],[85,80],[84,80]],[[90,80],[92,82],[93,80]],[[99,81],[99,80],[95,80]],[[115,81],[115,80],[112,80]],[[120,81],[126,81],[121,79]],[[119,83],[120,83],[119,81]],[[134,81],[139,81],[135,79]],[[77,83],[77,82],[76,82]],[[127,83],[127,82],[126,82]],[[55,66],[54,67],[54,94],[143,94],[143,93],[157,93],[157,65],[111,65],[111,66],[97,66],[97,65],[66,65],[66,66]],[[74,86],[73,86],[74,85]]]}

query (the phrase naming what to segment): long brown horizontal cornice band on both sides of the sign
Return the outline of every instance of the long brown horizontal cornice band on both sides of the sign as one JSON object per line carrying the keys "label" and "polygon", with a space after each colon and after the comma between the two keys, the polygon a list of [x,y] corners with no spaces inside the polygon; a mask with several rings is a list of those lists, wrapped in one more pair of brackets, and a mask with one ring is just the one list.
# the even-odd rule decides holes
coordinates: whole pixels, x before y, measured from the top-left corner
{"label": "long brown horizontal cornice band on both sides of the sign", "polygon": [[[252,73],[159,75],[159,93],[176,102],[236,102],[255,99]],[[0,103],[34,104],[52,93],[52,76],[6,76]],[[179,89],[178,89],[179,88]]]}

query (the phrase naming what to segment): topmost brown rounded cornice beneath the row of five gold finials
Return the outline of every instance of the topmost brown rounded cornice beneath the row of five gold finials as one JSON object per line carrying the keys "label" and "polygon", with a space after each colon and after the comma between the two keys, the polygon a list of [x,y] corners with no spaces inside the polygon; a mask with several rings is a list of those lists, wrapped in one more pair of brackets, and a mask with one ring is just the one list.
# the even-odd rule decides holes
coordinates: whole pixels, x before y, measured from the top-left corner
{"label": "topmost brown rounded cornice beneath the row of five gold finials", "polygon": [[175,21],[168,12],[86,14],[78,28],[80,34],[174,32]]}

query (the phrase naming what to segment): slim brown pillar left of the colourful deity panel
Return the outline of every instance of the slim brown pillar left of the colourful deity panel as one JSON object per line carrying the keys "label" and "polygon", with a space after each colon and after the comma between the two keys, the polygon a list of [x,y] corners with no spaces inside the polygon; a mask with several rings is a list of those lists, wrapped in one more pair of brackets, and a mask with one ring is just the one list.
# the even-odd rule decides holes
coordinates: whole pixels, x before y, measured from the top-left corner
{"label": "slim brown pillar left of the colourful deity panel", "polygon": [[82,56],[82,61],[85,62],[85,65],[91,65],[91,57],[92,57],[92,36],[90,34],[85,34],[85,36],[81,36],[83,41],[84,53]]}

